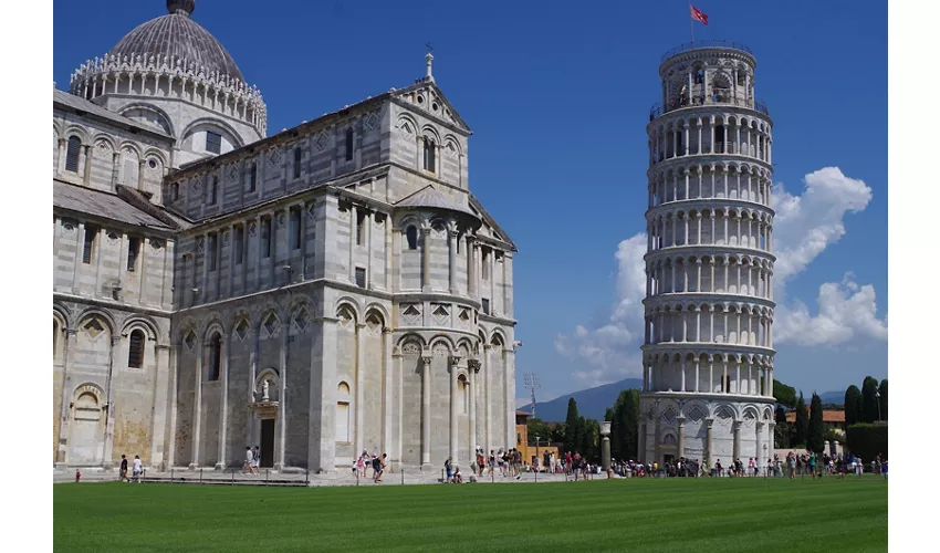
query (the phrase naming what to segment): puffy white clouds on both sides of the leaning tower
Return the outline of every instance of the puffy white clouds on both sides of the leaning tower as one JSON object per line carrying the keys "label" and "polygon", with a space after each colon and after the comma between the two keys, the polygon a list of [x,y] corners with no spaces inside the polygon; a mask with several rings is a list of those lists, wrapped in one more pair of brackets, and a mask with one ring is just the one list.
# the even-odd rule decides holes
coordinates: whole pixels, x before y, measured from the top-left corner
{"label": "puffy white clouds on both sides of the leaning tower", "polygon": [[[875,289],[859,286],[850,274],[842,283],[819,288],[819,314],[794,301],[787,305],[785,284],[803,272],[827,247],[845,236],[847,213],[863,211],[871,200],[871,189],[861,180],[843,175],[838,167],[825,167],[806,175],[801,196],[774,187],[774,296],[776,343],[801,345],[846,344],[858,337],[887,340],[887,316],[878,320]],[[643,342],[643,299],[646,275],[643,257],[646,233],[640,232],[617,247],[617,301],[610,316],[594,330],[577,325],[571,334],[555,337],[555,349],[579,363],[572,375],[588,386],[598,386],[628,376],[639,376]]]}

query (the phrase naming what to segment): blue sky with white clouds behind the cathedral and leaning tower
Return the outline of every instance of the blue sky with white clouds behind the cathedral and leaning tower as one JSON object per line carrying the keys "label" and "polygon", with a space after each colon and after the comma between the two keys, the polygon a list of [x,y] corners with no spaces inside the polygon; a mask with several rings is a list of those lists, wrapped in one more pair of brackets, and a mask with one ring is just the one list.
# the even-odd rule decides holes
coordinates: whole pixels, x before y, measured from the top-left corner
{"label": "blue sky with white clouds behind the cathedral and leaning tower", "polygon": [[[689,41],[687,3],[414,6],[198,0],[194,19],[261,88],[272,133],[414,82],[431,42],[437,82],[474,132],[470,188],[520,249],[518,395],[528,372],[544,397],[638,376],[629,273],[646,241],[629,239],[645,227],[657,66]],[[754,52],[774,118],[775,239],[792,268],[777,283],[775,376],[807,395],[886,377],[886,2],[696,6],[709,15],[696,39]],[[56,1],[59,87],[165,12],[159,0]]]}

